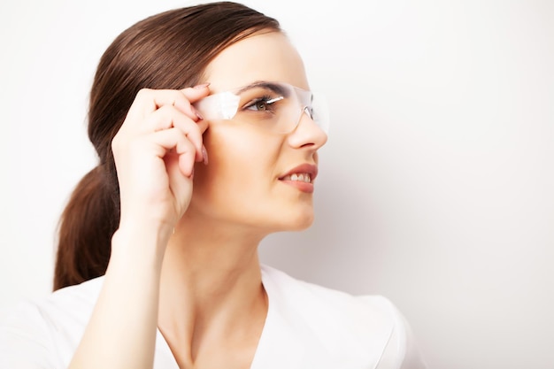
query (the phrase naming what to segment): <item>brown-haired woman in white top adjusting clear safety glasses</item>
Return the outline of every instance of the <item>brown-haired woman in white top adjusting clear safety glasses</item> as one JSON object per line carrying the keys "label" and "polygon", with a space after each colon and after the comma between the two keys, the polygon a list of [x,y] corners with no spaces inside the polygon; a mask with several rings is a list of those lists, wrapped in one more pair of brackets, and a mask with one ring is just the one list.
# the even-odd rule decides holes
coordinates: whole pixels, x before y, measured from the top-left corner
{"label": "brown-haired woman in white top adjusting clear safety glasses", "polygon": [[309,227],[327,120],[278,22],[242,4],[164,12],[105,51],[99,164],[62,216],[46,301],[4,324],[2,367],[419,368],[379,296],[258,261]]}

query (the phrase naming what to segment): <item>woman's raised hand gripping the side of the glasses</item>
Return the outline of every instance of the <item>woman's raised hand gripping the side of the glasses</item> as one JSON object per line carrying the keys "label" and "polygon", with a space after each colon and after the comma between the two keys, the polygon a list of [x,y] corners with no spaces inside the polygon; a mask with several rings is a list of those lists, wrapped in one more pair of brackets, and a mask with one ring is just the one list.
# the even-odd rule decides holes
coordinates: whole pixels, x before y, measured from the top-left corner
{"label": "woman's raised hand gripping the side of the glasses", "polygon": [[205,157],[202,134],[207,128],[192,103],[208,94],[207,86],[201,85],[142,89],[136,95],[112,141],[121,201],[119,227],[172,230],[187,211],[194,165]]}

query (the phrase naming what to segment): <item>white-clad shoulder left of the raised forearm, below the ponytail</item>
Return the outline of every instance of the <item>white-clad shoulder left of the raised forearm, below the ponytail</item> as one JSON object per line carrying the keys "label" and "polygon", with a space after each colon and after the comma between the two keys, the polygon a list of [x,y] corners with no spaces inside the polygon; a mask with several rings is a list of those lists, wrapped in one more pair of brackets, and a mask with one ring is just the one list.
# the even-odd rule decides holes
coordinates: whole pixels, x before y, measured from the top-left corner
{"label": "white-clad shoulder left of the raised forearm, below the ponytail", "polygon": [[65,367],[96,303],[102,277],[20,302],[0,319],[1,367]]}

